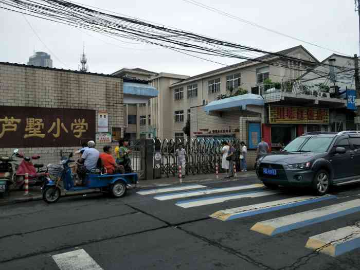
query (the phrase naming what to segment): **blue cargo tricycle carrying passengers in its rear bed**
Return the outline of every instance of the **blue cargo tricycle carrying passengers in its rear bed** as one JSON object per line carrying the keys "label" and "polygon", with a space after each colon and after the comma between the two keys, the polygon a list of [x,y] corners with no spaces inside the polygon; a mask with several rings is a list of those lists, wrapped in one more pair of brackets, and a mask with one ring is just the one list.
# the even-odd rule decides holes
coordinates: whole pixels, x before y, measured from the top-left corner
{"label": "blue cargo tricycle carrying passengers in its rear bed", "polygon": [[86,185],[75,187],[73,173],[69,167],[69,163],[75,162],[70,159],[73,156],[72,153],[68,157],[62,157],[61,163],[64,167],[61,173],[61,177],[58,179],[49,180],[43,187],[43,200],[47,203],[55,203],[61,196],[60,181],[63,182],[64,189],[66,191],[80,191],[88,189],[97,189],[104,194],[111,194],[113,197],[119,198],[126,194],[128,185],[135,186],[138,184],[138,178],[136,173],[124,173],[124,174],[107,174],[101,169],[96,172],[86,174]]}

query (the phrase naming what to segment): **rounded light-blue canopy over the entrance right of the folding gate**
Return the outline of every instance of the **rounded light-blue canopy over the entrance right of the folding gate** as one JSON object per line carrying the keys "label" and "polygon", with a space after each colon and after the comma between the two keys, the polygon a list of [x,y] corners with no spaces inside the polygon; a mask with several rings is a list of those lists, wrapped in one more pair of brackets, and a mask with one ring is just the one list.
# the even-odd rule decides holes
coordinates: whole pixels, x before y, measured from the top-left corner
{"label": "rounded light-blue canopy over the entrance right of the folding gate", "polygon": [[231,98],[224,98],[215,100],[203,107],[207,115],[214,111],[229,111],[231,109],[238,109],[246,111],[247,105],[263,106],[264,99],[259,95],[245,94]]}

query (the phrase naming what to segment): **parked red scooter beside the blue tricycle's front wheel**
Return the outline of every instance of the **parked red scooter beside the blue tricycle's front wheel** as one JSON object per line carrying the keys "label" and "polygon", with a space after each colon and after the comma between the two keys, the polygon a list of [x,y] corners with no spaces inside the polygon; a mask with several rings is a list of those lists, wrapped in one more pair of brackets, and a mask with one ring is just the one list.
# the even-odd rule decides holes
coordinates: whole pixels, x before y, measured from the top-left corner
{"label": "parked red scooter beside the blue tricycle's front wheel", "polygon": [[33,155],[32,157],[24,156],[23,153],[16,153],[16,157],[22,158],[19,167],[16,169],[16,187],[24,189],[25,185],[25,174],[29,174],[29,186],[42,186],[47,179],[49,179],[49,173],[46,170],[41,170],[44,164],[33,164],[32,160],[37,160],[41,156]]}

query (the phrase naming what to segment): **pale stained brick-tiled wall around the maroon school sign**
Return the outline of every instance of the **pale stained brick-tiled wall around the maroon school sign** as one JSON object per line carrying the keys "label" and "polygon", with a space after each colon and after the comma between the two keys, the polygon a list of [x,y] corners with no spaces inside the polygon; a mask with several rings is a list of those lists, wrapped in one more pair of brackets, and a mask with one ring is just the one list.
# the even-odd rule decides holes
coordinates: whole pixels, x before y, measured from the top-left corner
{"label": "pale stained brick-tiled wall around the maroon school sign", "polygon": [[[123,81],[100,74],[0,63],[0,106],[29,106],[88,109],[109,113],[111,127],[120,127],[123,136]],[[97,119],[96,119],[97,127]],[[1,127],[0,127],[1,128]],[[112,143],[113,146],[117,143]],[[104,145],[96,148],[102,151]],[[40,154],[39,163],[58,163],[60,151],[70,153],[77,147],[44,147],[20,149],[25,155]],[[11,154],[13,148],[0,148]]]}

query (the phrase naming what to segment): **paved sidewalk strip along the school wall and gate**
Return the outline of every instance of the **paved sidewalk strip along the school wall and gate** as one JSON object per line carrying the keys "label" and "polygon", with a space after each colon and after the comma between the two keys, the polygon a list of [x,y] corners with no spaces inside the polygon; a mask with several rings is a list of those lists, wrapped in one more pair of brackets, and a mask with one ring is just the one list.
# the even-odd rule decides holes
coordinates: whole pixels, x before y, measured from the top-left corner
{"label": "paved sidewalk strip along the school wall and gate", "polygon": [[[215,174],[197,174],[197,175],[186,175],[182,179],[182,183],[179,182],[178,177],[163,177],[159,179],[152,180],[140,180],[137,188],[156,188],[161,186],[170,186],[170,185],[181,185],[187,183],[199,183],[199,182],[217,182],[217,181],[235,181],[241,178],[256,178],[255,171],[248,172],[238,172],[237,177],[232,177],[230,179],[226,178],[226,173],[219,173],[219,178],[217,179]],[[84,190],[84,191],[62,191],[62,196],[74,196],[74,195],[85,195],[91,193],[98,193],[96,189]],[[29,195],[24,195],[25,191],[23,190],[12,190],[10,195],[6,195],[0,198],[0,206],[14,204],[14,203],[23,203],[30,201],[39,201],[42,200],[41,188],[40,187],[29,187]],[[67,194],[68,193],[68,194]]]}

